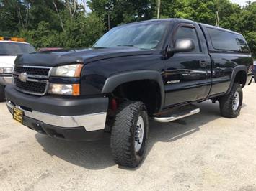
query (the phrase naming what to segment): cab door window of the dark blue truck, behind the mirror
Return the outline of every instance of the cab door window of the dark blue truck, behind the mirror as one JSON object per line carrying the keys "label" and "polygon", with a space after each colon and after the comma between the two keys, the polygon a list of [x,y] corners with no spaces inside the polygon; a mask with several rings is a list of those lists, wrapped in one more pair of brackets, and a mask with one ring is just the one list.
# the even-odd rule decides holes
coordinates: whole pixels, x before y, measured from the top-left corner
{"label": "cab door window of the dark blue truck, behind the mirror", "polygon": [[193,39],[195,43],[195,50],[192,52],[200,52],[200,46],[198,42],[198,35],[194,28],[191,27],[179,27],[175,33],[175,41],[177,39]]}

